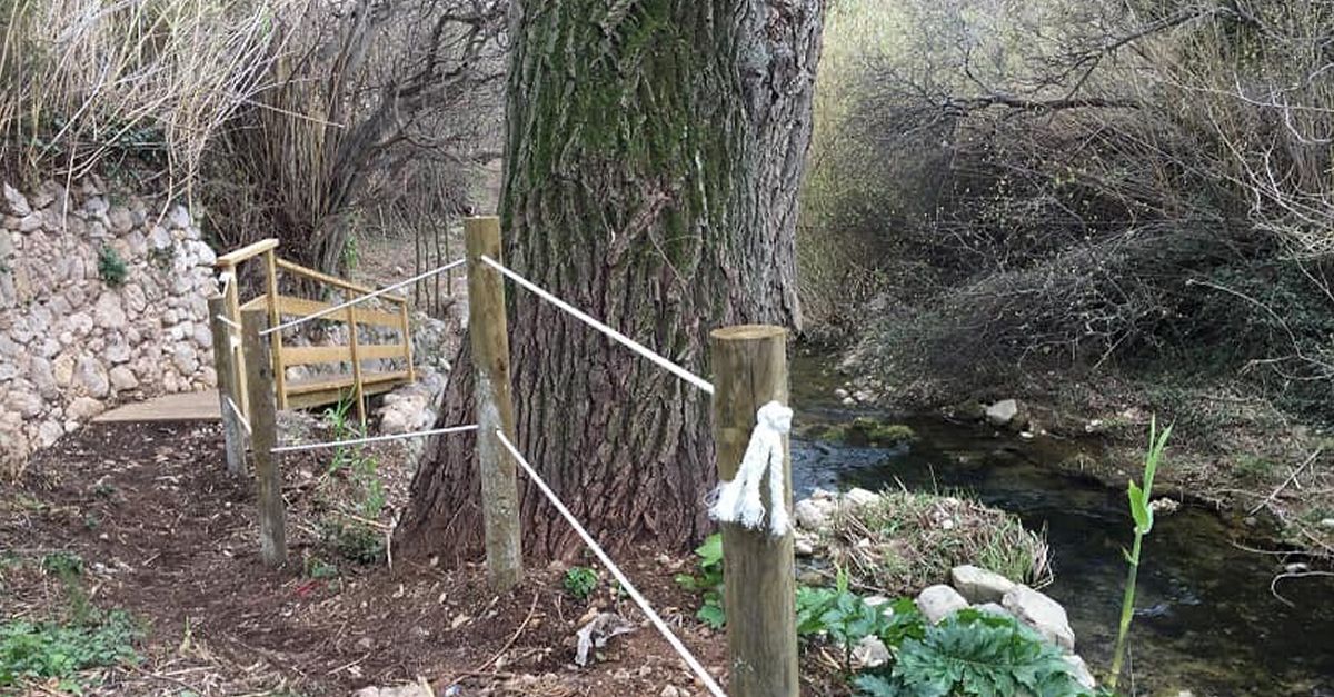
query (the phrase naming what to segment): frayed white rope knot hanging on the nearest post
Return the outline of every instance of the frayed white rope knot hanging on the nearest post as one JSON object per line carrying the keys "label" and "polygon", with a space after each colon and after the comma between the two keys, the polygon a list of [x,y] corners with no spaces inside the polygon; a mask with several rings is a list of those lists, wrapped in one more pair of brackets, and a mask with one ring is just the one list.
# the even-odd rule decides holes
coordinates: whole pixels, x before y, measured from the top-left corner
{"label": "frayed white rope knot hanging on the nearest post", "polygon": [[760,482],[768,471],[768,534],[783,537],[788,530],[787,497],[783,482],[783,435],[792,430],[792,410],[770,402],[755,414],[755,430],[742,457],[740,467],[730,482],[722,482],[711,494],[708,517],[762,530],[764,503]]}

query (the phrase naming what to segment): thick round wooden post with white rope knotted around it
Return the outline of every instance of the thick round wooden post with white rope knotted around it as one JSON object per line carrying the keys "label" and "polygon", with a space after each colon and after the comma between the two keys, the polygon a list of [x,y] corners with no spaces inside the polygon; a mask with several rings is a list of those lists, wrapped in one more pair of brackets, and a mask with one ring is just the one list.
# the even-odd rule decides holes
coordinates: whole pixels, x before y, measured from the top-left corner
{"label": "thick round wooden post with white rope knotted around it", "polygon": [[[714,439],[718,475],[736,475],[755,427],[755,413],[770,401],[788,403],[787,330],[739,326],[711,335],[714,369]],[[786,506],[792,503],[792,466],[783,439]],[[768,475],[760,483],[768,491]],[[768,505],[766,498],[766,506]],[[766,518],[767,519],[767,518]],[[766,530],[724,523],[723,605],[727,608],[727,648],[732,697],[796,697],[796,582],[792,533],[782,538]]]}

